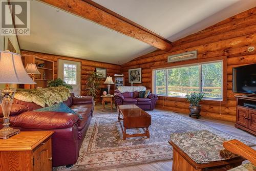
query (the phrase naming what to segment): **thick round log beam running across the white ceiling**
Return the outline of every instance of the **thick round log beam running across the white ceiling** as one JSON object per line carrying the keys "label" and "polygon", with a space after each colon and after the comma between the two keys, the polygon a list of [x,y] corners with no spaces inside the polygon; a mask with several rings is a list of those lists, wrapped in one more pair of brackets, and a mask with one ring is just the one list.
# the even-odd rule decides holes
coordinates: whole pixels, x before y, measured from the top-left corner
{"label": "thick round log beam running across the white ceiling", "polygon": [[56,8],[91,20],[157,49],[169,51],[172,44],[163,37],[89,0],[39,0]]}

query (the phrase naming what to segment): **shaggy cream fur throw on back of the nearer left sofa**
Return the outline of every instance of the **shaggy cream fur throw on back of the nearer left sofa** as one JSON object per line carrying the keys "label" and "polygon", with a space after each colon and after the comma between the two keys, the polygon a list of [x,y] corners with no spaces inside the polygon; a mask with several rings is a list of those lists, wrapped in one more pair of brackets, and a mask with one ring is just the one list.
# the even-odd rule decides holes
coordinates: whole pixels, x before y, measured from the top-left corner
{"label": "shaggy cream fur throw on back of the nearer left sofa", "polygon": [[66,87],[51,87],[51,88],[38,88],[29,90],[17,90],[14,98],[20,101],[34,102],[37,105],[45,108],[54,103],[59,103],[68,100],[70,97],[70,90]]}

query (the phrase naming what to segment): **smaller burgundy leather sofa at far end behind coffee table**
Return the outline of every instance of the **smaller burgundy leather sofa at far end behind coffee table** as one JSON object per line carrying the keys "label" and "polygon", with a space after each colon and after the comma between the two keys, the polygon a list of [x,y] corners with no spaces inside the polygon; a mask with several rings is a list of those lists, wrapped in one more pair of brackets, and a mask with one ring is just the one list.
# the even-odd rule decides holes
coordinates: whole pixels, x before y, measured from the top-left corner
{"label": "smaller burgundy leather sofa at far end behind coffee table", "polygon": [[139,92],[121,93],[119,90],[114,91],[115,104],[136,104],[142,110],[154,110],[157,102],[157,95],[150,93],[147,98],[139,98]]}

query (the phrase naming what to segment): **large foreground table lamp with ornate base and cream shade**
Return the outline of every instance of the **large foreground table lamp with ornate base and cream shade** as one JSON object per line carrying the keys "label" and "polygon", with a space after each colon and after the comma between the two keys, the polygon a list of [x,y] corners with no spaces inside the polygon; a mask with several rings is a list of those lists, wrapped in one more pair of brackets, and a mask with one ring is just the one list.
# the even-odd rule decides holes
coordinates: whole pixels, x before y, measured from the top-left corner
{"label": "large foreground table lamp with ornate base and cream shade", "polygon": [[5,89],[0,89],[0,102],[2,102],[4,115],[4,127],[0,130],[0,138],[7,139],[20,132],[9,127],[9,115],[16,91],[16,89],[10,89],[9,84],[35,84],[35,82],[27,74],[22,63],[22,57],[19,54],[0,51],[0,69],[0,83],[5,83]]}

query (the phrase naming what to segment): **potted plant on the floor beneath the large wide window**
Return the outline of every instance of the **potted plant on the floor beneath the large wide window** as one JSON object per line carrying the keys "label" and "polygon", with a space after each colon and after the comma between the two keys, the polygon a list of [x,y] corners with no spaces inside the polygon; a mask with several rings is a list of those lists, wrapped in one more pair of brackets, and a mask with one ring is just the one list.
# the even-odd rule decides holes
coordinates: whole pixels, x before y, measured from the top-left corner
{"label": "potted plant on the floor beneath the large wide window", "polygon": [[189,117],[196,116],[197,119],[201,116],[201,105],[199,102],[203,99],[204,93],[191,93],[186,95],[187,101],[190,103],[189,105]]}

